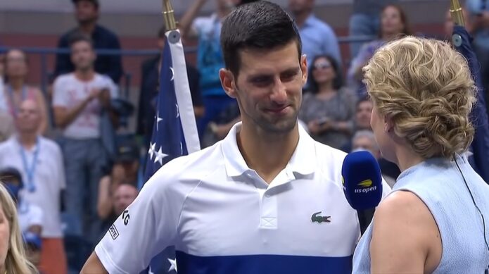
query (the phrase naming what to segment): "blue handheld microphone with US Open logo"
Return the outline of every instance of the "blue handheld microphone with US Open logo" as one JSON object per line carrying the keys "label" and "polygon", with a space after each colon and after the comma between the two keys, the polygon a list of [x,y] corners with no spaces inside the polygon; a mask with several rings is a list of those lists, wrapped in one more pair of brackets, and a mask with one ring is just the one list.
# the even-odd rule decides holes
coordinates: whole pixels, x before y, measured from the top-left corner
{"label": "blue handheld microphone with US Open logo", "polygon": [[382,199],[379,163],[369,151],[350,153],[343,160],[341,180],[348,204],[358,213],[363,235],[374,218],[375,207]]}

